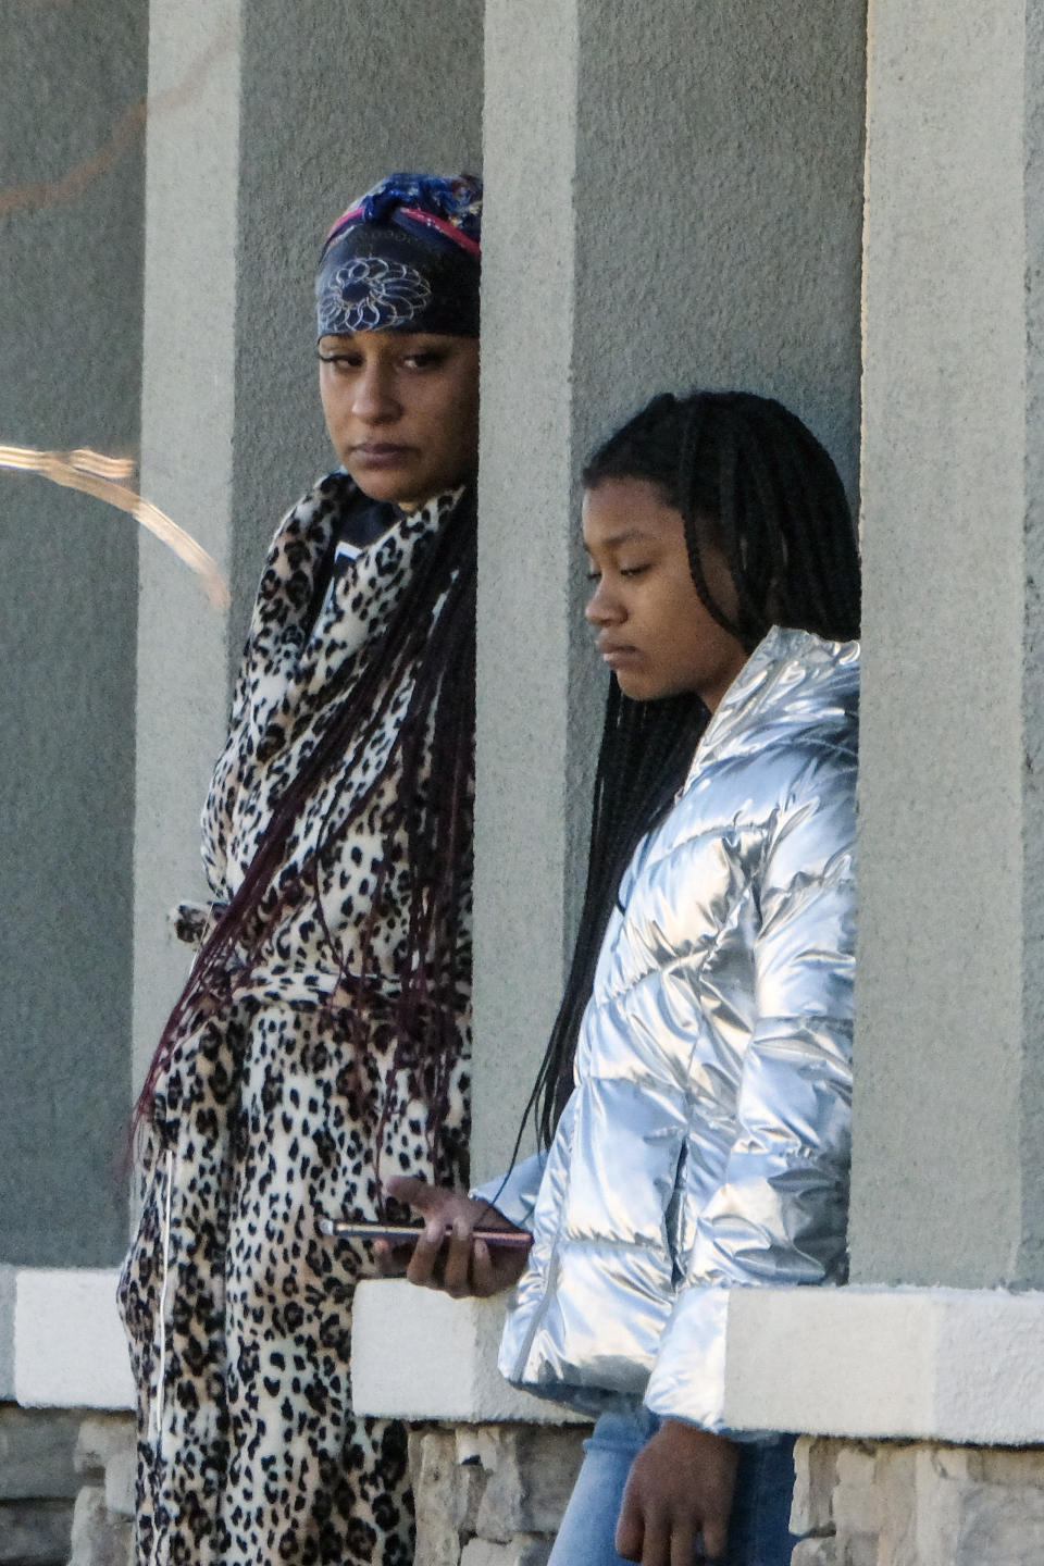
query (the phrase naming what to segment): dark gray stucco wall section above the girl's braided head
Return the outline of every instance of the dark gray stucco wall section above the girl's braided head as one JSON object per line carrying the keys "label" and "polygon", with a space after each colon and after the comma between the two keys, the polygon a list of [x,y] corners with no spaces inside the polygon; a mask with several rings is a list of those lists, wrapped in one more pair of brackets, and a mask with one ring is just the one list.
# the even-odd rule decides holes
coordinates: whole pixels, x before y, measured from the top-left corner
{"label": "dark gray stucco wall section above the girl's braided head", "polygon": [[778,396],[858,495],[866,0],[581,6],[576,420]]}

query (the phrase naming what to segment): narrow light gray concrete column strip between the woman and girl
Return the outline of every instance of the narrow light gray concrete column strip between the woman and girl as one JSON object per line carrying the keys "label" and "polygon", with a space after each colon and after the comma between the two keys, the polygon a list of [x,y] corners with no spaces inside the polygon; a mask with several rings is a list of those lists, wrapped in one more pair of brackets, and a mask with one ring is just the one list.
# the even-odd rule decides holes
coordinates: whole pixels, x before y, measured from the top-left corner
{"label": "narrow light gray concrete column strip between the woman and girl", "polygon": [[[589,792],[571,481],[576,5],[485,16],[471,1167],[504,1168],[562,988]],[[574,792],[565,786],[573,778]]]}

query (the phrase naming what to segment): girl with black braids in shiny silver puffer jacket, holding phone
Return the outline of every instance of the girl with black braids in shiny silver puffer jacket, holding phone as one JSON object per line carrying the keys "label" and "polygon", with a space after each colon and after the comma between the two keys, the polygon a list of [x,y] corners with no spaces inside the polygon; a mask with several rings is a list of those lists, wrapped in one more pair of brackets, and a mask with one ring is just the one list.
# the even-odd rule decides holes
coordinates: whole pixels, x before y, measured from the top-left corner
{"label": "girl with black braids in shiny silver puffer jacket, holding phone", "polygon": [[[601,1416],[556,1566],[781,1566],[792,1438],[726,1428],[725,1320],[729,1287],[844,1278],[855,532],[822,446],[747,393],[657,398],[584,484],[615,678],[553,1140],[535,1192],[526,1165],[488,1190],[532,1232],[501,1369]],[[390,1189],[426,1217],[415,1283],[518,1275],[470,1240],[484,1201]]]}

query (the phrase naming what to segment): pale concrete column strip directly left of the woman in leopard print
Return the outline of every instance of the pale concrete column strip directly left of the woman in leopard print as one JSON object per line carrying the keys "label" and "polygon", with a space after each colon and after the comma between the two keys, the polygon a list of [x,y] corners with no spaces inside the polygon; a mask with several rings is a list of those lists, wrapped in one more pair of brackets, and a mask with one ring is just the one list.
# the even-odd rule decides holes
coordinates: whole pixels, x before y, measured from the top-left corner
{"label": "pale concrete column strip directly left of the woman in leopard print", "polygon": [[[142,489],[227,573],[232,554],[239,0],[152,0]],[[188,963],[166,933],[202,896],[199,806],[221,744],[229,628],[155,540],[141,547],[135,816],[139,1081]]]}

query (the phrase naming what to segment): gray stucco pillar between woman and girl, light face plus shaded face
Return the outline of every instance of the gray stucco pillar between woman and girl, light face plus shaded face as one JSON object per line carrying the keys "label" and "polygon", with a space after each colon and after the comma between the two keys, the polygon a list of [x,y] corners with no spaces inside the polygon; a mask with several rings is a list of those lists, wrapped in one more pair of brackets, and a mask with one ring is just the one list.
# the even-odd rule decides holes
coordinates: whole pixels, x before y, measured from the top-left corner
{"label": "gray stucco pillar between woman and girl, light face plus shaded face", "polygon": [[862,0],[487,5],[476,1138],[562,991],[603,677],[576,476],[659,388],[783,398],[855,490]]}

